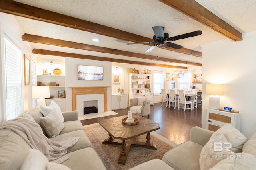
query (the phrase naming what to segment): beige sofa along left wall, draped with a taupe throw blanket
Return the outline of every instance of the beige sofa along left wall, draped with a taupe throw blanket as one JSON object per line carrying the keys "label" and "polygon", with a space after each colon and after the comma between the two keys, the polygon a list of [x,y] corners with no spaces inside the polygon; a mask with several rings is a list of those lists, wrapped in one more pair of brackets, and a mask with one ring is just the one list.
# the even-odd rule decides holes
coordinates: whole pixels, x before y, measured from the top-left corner
{"label": "beige sofa along left wall, draped with a taupe throw blanket", "polygon": [[[55,104],[53,104],[55,107]],[[40,110],[41,109],[41,110]],[[34,121],[38,124],[42,124],[42,117],[44,115],[41,111],[47,112],[48,108],[34,107],[30,111],[19,115],[17,118],[24,117],[24,115],[30,115],[34,118]],[[60,111],[60,110],[59,110]],[[46,113],[47,114],[47,113]],[[48,114],[50,115],[50,113]],[[45,117],[47,117],[46,115]],[[68,156],[68,160],[61,164],[49,162],[44,154],[38,153],[36,149],[32,147],[16,132],[12,129],[1,129],[0,125],[0,166],[2,170],[20,170],[20,169],[72,169],[72,170],[105,170],[105,166],[102,163],[100,157],[94,149],[91,147],[91,142],[84,132],[82,123],[78,121],[77,111],[63,112],[63,129],[55,137],[48,137],[52,141],[61,141],[69,137],[79,137],[78,141],[67,149],[65,156]],[[41,122],[40,122],[41,118]],[[48,120],[47,120],[48,121]],[[47,126],[47,123],[46,123]],[[62,125],[57,125],[61,127]],[[41,126],[42,127],[42,126]],[[42,127],[44,134],[47,134]],[[50,130],[49,130],[50,131]],[[48,132],[49,133],[49,132]],[[55,133],[53,131],[53,133]],[[57,132],[58,133],[58,132]],[[48,134],[47,134],[48,135]],[[44,158],[45,157],[45,158]],[[46,160],[46,161],[43,161]],[[35,165],[34,165],[35,164]],[[33,165],[35,167],[33,167]],[[28,168],[29,166],[29,168]]]}

